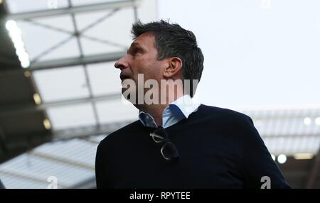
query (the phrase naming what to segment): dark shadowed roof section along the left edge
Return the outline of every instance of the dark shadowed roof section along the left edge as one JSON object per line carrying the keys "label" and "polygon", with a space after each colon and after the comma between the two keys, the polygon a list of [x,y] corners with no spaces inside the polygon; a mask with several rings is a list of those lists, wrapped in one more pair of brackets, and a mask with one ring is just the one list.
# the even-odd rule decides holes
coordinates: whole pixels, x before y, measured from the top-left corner
{"label": "dark shadowed roof section along the left edge", "polygon": [[37,92],[31,75],[22,69],[16,50],[6,31],[7,9],[0,4],[0,163],[52,138],[43,126],[46,111],[8,111],[19,106],[36,108]]}

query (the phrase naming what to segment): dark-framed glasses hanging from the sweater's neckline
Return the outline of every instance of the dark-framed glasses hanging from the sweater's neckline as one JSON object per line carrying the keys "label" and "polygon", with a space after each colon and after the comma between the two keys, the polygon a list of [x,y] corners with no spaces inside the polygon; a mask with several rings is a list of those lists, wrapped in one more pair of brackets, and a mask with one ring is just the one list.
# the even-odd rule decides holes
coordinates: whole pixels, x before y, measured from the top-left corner
{"label": "dark-framed glasses hanging from the sweater's neckline", "polygon": [[176,160],[179,157],[178,150],[174,143],[169,140],[168,133],[164,130],[162,126],[158,126],[156,130],[150,133],[150,136],[155,143],[161,143],[161,155],[165,160]]}

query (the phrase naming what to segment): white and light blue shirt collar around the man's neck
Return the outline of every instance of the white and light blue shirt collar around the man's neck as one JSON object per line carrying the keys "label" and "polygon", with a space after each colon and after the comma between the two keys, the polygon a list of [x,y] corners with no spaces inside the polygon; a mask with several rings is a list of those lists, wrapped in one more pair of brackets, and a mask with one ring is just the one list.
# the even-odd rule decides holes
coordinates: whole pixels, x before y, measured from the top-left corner
{"label": "white and light blue shirt collar around the man's neck", "polygon": [[[162,127],[168,128],[182,119],[188,119],[188,116],[194,111],[197,111],[199,106],[200,104],[193,101],[188,94],[176,99],[176,101],[172,102],[164,109],[162,113]],[[151,128],[157,127],[154,118],[144,111],[139,111],[139,120],[144,126]]]}

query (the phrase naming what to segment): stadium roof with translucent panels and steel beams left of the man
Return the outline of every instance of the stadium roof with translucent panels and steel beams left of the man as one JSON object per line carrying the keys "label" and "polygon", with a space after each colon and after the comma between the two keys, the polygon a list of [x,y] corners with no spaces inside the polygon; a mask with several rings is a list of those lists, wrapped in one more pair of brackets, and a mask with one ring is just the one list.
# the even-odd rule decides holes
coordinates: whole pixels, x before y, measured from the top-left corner
{"label": "stadium roof with translucent panels and steel beams left of the man", "polygon": [[[55,164],[63,163],[65,159],[49,153],[39,156],[34,153],[38,149],[36,146],[51,141],[44,146],[55,148],[58,145],[57,150],[64,153],[61,143],[70,149],[79,143],[77,138],[110,133],[137,116],[137,109],[121,102],[119,70],[114,68],[114,61],[127,52],[132,41],[130,28],[137,21],[138,14],[142,21],[151,21],[156,15],[155,8],[155,1],[138,0],[11,0],[1,4],[1,35],[4,35],[1,40],[5,42],[1,44],[8,46],[1,53],[1,63],[6,63],[0,72],[3,150],[0,177],[6,187],[43,188],[39,181],[40,185],[48,185],[47,177],[36,177],[41,173],[33,173],[28,164],[39,163],[43,167],[38,170],[58,170],[60,165]],[[8,26],[8,21],[16,27]],[[21,58],[16,56],[16,43],[12,37],[17,29],[30,60],[30,65],[25,68],[19,62]],[[9,58],[13,58],[12,61]],[[84,147],[91,147],[88,151],[93,156],[88,160],[92,164],[95,146],[87,139],[80,142]],[[75,153],[74,148],[73,152],[82,155],[84,150],[79,150]],[[28,160],[25,170],[21,165],[23,157]],[[38,158],[39,162],[33,162],[33,158]],[[85,160],[85,157],[79,158]],[[4,163],[6,160],[9,161]],[[84,163],[67,161],[66,165],[69,168],[64,170],[71,173],[82,165],[80,169],[87,170],[90,177],[94,174],[92,166],[83,167]],[[79,174],[85,174],[80,169]],[[50,176],[60,179],[60,174]],[[75,182],[63,183],[62,180],[61,187],[73,187],[86,178],[79,175]],[[14,179],[26,184],[15,185]]]}

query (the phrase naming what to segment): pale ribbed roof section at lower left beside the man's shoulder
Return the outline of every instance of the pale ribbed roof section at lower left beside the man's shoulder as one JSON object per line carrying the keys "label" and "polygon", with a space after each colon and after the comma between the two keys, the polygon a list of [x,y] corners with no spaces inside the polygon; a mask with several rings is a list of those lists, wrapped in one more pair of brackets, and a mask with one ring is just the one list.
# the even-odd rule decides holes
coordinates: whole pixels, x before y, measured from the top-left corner
{"label": "pale ribbed roof section at lower left beside the man's shoulder", "polygon": [[[73,187],[81,180],[94,177],[96,148],[96,144],[78,139],[46,143],[1,164],[1,180],[7,188],[45,189],[49,185],[48,177],[54,176],[58,188]],[[87,168],[73,163],[82,163]]]}

